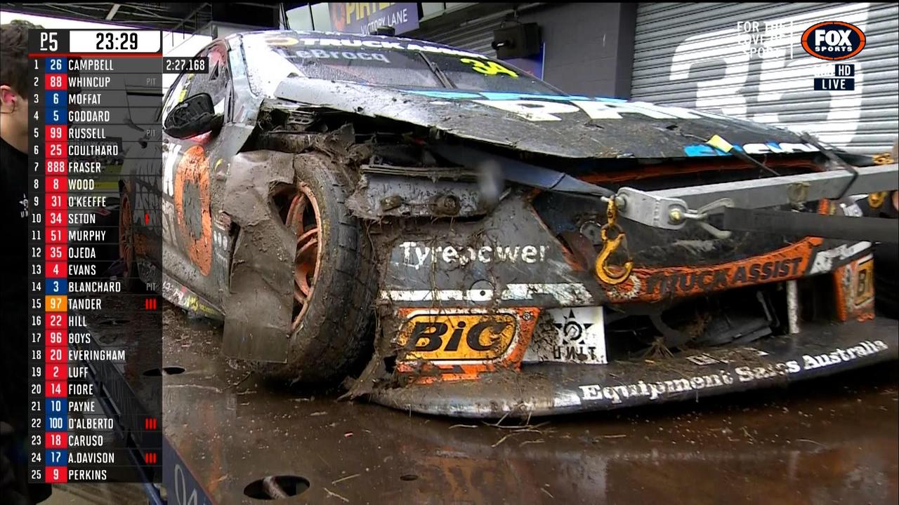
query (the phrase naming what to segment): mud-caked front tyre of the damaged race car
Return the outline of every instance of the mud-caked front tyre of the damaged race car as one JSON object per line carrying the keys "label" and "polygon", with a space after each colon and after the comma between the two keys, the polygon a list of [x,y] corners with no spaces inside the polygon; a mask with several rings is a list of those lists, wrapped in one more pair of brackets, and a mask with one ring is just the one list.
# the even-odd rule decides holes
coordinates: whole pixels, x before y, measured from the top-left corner
{"label": "mud-caked front tyre of the damaged race car", "polygon": [[298,155],[296,188],[281,217],[298,237],[288,362],[258,365],[266,377],[304,383],[343,379],[370,351],[378,285],[369,238],[346,207],[350,184],[321,153]]}

